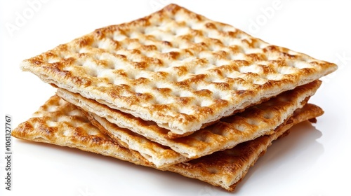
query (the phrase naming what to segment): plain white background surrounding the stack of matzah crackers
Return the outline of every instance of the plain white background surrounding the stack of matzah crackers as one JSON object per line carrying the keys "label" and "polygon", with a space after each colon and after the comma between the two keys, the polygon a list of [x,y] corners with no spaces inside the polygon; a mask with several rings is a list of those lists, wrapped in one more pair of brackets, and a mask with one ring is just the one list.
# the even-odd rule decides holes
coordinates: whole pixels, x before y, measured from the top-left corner
{"label": "plain white background surrounding the stack of matzah crackers", "polygon": [[[40,2],[31,6],[31,2]],[[177,1],[275,45],[338,64],[311,102],[325,114],[274,142],[234,193],[170,172],[75,149],[13,139],[11,191],[5,190],[6,114],[13,129],[55,90],[23,59],[106,25],[128,22],[171,1],[1,1],[2,195],[351,195],[351,6],[347,1]]]}

